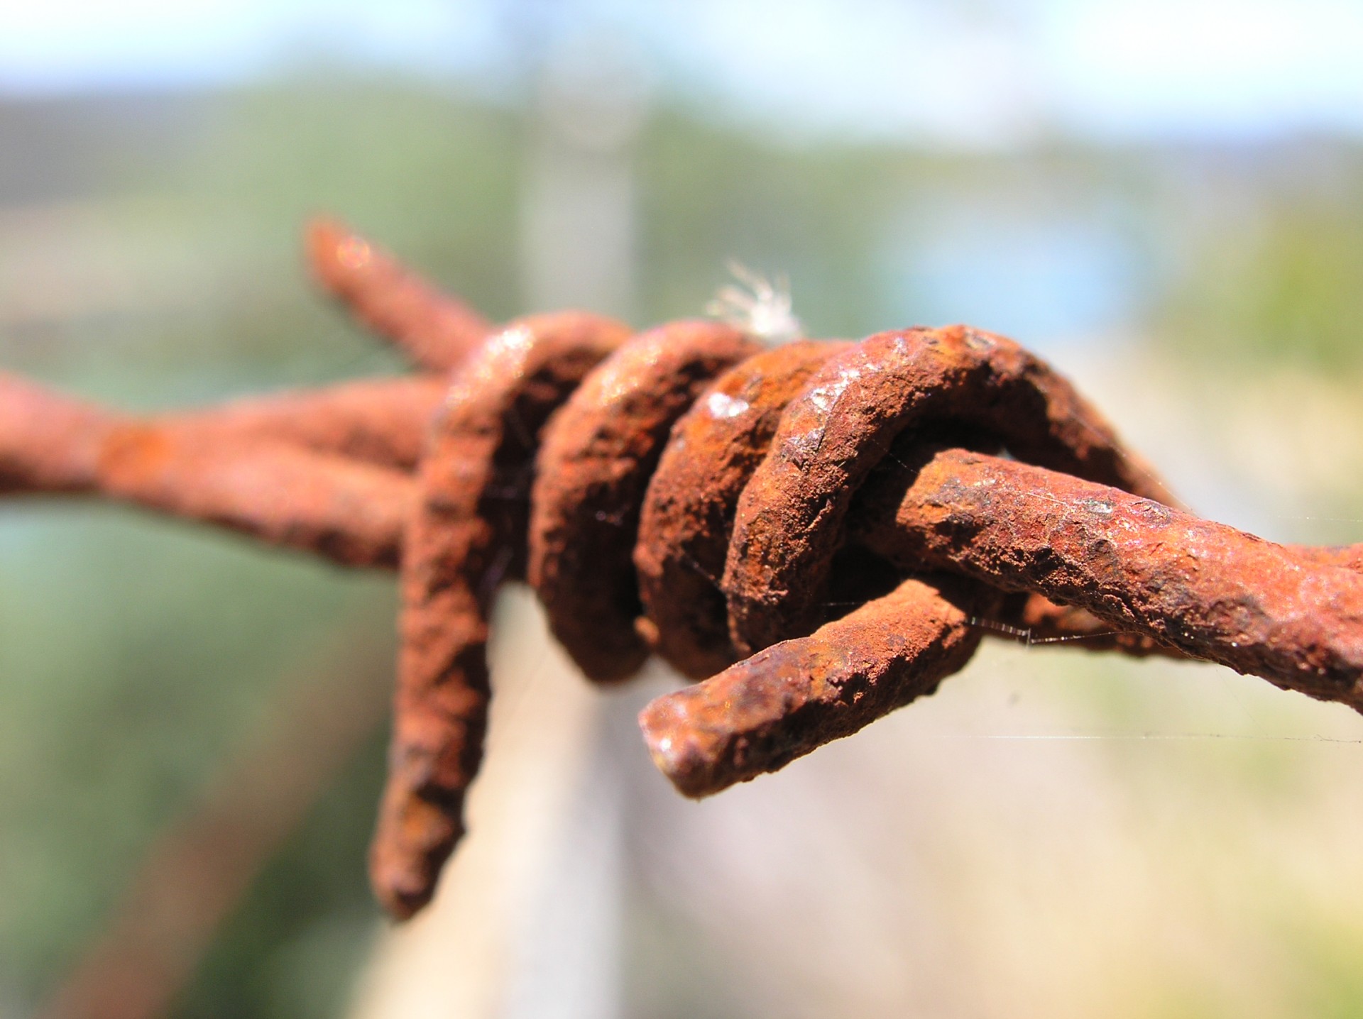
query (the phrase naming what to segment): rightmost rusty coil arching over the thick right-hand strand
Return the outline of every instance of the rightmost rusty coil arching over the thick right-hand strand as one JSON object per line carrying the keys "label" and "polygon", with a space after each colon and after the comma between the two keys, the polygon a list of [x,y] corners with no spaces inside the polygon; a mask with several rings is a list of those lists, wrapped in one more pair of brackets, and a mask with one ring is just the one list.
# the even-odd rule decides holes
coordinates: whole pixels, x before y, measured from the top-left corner
{"label": "rightmost rusty coil arching over the thick right-hand strand", "polygon": [[724,571],[740,651],[818,624],[857,486],[901,432],[943,418],[999,435],[1022,459],[1169,499],[1101,416],[1013,341],[964,326],[878,334],[810,379],[743,489]]}

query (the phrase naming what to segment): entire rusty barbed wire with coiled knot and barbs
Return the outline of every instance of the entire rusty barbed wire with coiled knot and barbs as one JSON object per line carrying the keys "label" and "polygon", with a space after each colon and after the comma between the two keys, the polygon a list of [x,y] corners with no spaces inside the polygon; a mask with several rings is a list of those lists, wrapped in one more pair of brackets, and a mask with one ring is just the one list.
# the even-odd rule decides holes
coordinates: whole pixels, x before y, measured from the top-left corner
{"label": "entire rusty barbed wire with coiled knot and barbs", "polygon": [[334,223],[309,262],[410,377],[132,418],[0,373],[0,493],[104,495],[398,568],[371,853],[397,917],[463,834],[488,614],[526,579],[596,683],[702,683],[641,726],[706,796],[931,693],[985,636],[1220,662],[1363,711],[1363,545],[1183,511],[1048,365],[965,326],[763,349],[732,323],[489,326]]}

